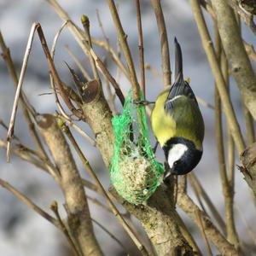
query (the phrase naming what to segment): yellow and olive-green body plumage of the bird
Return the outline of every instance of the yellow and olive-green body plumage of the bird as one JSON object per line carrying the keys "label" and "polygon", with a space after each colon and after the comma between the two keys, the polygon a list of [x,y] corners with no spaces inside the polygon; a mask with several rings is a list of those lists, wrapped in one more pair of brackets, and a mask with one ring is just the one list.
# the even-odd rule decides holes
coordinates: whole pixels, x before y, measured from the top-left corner
{"label": "yellow and olive-green body plumage of the bird", "polygon": [[182,96],[174,106],[175,111],[166,113],[164,106],[168,93],[169,88],[158,96],[151,113],[154,136],[161,147],[172,137],[185,137],[195,143],[196,148],[201,149],[204,124],[200,109],[194,101]]}

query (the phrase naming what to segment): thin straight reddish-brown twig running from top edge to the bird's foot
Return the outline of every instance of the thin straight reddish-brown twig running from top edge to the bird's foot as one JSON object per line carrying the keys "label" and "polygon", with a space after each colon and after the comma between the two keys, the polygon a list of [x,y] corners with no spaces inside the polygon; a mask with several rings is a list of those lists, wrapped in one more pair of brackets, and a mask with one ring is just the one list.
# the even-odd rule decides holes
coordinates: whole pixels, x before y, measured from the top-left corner
{"label": "thin straight reddish-brown twig running from top edge to the bird's foot", "polygon": [[135,0],[136,9],[137,9],[137,30],[138,30],[138,48],[140,55],[140,66],[141,66],[141,86],[143,90],[143,96],[146,98],[146,88],[145,88],[145,68],[144,68],[144,48],[143,48],[143,26],[142,26],[142,15],[140,0]]}

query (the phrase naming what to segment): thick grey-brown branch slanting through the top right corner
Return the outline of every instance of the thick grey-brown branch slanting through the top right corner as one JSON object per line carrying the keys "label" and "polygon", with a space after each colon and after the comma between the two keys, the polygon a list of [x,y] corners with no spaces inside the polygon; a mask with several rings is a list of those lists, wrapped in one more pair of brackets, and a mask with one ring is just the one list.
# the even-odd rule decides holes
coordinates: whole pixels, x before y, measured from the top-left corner
{"label": "thick grey-brown branch slanting through the top right corner", "polygon": [[231,72],[241,91],[243,102],[253,115],[253,119],[256,119],[256,76],[242,42],[234,11],[224,0],[212,0],[212,7]]}

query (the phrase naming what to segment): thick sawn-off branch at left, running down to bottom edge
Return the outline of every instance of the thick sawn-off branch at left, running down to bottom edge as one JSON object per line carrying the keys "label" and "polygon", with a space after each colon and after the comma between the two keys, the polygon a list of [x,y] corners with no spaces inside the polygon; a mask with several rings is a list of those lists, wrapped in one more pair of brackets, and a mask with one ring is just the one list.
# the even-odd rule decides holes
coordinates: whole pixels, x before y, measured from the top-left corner
{"label": "thick sawn-off branch at left, running down to bottom edge", "polygon": [[60,185],[65,196],[67,223],[74,241],[85,256],[102,256],[91,224],[82,179],[70,148],[55,118],[44,114],[38,121],[40,132],[60,172]]}

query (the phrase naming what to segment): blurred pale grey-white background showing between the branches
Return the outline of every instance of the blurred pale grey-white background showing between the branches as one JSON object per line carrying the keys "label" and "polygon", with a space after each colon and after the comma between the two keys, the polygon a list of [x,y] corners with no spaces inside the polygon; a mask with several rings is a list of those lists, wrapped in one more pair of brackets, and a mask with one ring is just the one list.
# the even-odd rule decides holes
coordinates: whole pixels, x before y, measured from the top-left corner
{"label": "blurred pale grey-white background showing between the branches", "polygon": [[[125,32],[128,35],[127,40],[130,44],[132,56],[137,67],[137,74],[139,75],[135,2],[131,0],[119,0],[115,2],[119,6],[119,16]],[[173,56],[173,39],[176,36],[183,49],[184,76],[190,78],[190,84],[195,91],[195,95],[200,96],[202,99],[213,105],[214,81],[207,63],[207,57],[201,46],[201,40],[191,13],[189,1],[163,0],[161,2],[166,18],[166,28],[171,55]],[[114,49],[117,49],[116,32],[106,1],[59,0],[59,3],[63,9],[67,11],[71,19],[79,26],[81,15],[88,15],[90,18],[91,35],[95,38],[103,39],[102,31],[96,18],[96,10],[98,10],[110,44]],[[154,69],[154,72],[146,71],[146,96],[148,101],[154,101],[163,88],[162,80],[160,75],[158,75],[158,73],[160,74],[161,72],[160,39],[158,37],[154,12],[151,8],[150,1],[143,0],[141,1],[141,4],[145,61]],[[212,21],[210,20],[209,15],[206,14],[205,17],[212,32]],[[20,73],[20,67],[32,22],[35,21],[41,23],[47,42],[49,46],[51,46],[55,32],[61,26],[62,21],[49,6],[49,3],[44,0],[0,0],[0,29],[3,33],[5,43],[8,45],[13,60],[15,61],[15,67],[18,73]],[[242,26],[242,34],[247,43],[254,43],[254,47],[256,46],[255,37],[247,27]],[[69,48],[79,56],[84,67],[90,67],[89,61],[83,55],[82,50],[79,49],[79,45],[75,42],[70,32],[65,29],[61,33],[60,41],[56,47],[55,66],[57,67],[61,79],[67,84],[73,84],[64,61],[67,61],[73,68],[76,69],[76,67],[73,60],[67,54],[67,50],[64,48],[65,45],[68,45]],[[102,51],[102,49],[96,48],[96,52],[102,59],[108,58],[108,54]],[[113,63],[110,61],[108,62],[108,68],[113,76],[116,76],[116,67],[114,67]],[[120,77],[119,84],[121,84],[123,90],[127,91],[129,89],[130,84],[127,83],[125,78]],[[25,90],[26,96],[39,113],[55,113],[56,107],[54,96],[42,96],[42,94],[50,92],[49,71],[46,65],[43,49],[39,44],[37,36],[35,37],[32,46],[32,54],[28,62],[23,90]],[[241,114],[240,95],[236,88],[236,83],[232,80],[230,90],[232,102],[241,123],[241,130],[244,133],[245,127]],[[0,119],[3,119],[6,124],[9,123],[14,97],[15,90],[12,80],[9,77],[3,59],[1,59]],[[120,106],[118,105],[118,109],[120,110],[119,107]],[[205,120],[206,136],[203,158],[200,165],[196,167],[195,173],[207,190],[213,203],[224,217],[224,200],[218,173],[218,155],[215,145],[214,112],[212,109],[204,106],[201,106],[201,111]],[[88,126],[85,124],[82,125],[82,128],[92,136]],[[5,139],[6,133],[7,132],[0,127],[0,137],[2,139]],[[20,137],[22,142],[32,147],[32,140],[20,110],[18,111],[16,120],[15,134]],[[90,145],[90,143],[84,141],[84,138],[79,137],[78,134],[75,134],[75,136],[79,139],[81,148],[83,148],[84,154],[90,160],[90,164],[96,171],[97,176],[101,179],[105,188],[108,189],[108,172],[103,166],[101,155],[97,152],[96,148],[93,148]],[[154,144],[153,137],[152,144]],[[32,199],[32,201],[36,202],[39,207],[44,208],[45,211],[49,212],[50,203],[56,200],[59,202],[61,211],[64,212],[61,207],[61,204],[63,203],[61,190],[49,175],[18,159],[15,155],[12,156],[11,163],[6,164],[5,154],[5,149],[0,148],[0,177],[9,181],[15,188],[20,189],[20,191]],[[160,149],[157,151],[157,156],[159,160],[163,160],[163,155]],[[76,154],[74,154],[74,158],[77,159],[77,165],[79,166],[81,174],[84,177],[87,177]],[[236,164],[239,164],[238,159],[236,160]],[[86,192],[91,197],[97,198],[97,195],[93,194],[93,192],[89,190]],[[235,218],[238,235],[240,237],[245,237],[247,244],[251,245],[253,244],[253,241],[250,236],[248,236],[248,230],[243,222],[243,218],[246,218],[247,223],[250,224],[250,228],[254,234],[256,234],[256,225],[254,225],[255,207],[253,206],[252,196],[250,195],[247,183],[244,182],[242,175],[238,170],[236,170],[235,192]],[[193,194],[191,194],[191,196],[195,198]],[[98,199],[102,200],[101,198]],[[125,247],[128,248],[131,255],[137,254],[136,251],[133,251],[132,249],[130,238],[126,236],[125,231],[111,214],[102,210],[101,207],[96,206],[91,201],[90,212],[92,218],[103,224],[105,228],[115,236],[118,236],[119,239],[125,243]],[[195,239],[201,246],[202,251],[204,251],[205,246],[200,233],[196,230],[195,226],[189,222],[188,218],[185,216],[183,216],[183,218],[185,218],[190,230],[194,229],[193,234],[195,235]],[[136,222],[136,220],[134,221]],[[106,255],[125,255],[122,248],[97,225],[95,226],[95,230],[103,252],[106,253]],[[141,233],[143,233],[143,230],[141,230]],[[14,195],[11,195],[7,190],[0,188],[0,255],[50,256],[71,255],[71,252],[69,251],[67,241],[61,232],[56,230],[55,227],[49,224],[44,218],[41,218],[38,214],[23,205]]]}

